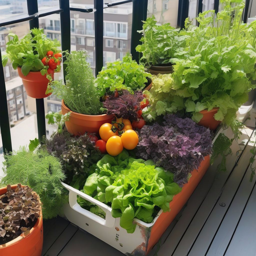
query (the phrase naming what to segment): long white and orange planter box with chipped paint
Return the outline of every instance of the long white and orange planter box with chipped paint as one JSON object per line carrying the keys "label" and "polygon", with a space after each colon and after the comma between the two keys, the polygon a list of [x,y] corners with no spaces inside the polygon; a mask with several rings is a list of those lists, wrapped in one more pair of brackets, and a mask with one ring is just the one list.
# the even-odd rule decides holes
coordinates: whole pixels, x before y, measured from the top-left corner
{"label": "long white and orange planter box with chipped paint", "polygon": [[[213,142],[221,132],[222,128],[217,132]],[[69,190],[69,204],[63,207],[64,214],[70,222],[108,243],[125,255],[145,256],[151,251],[178,212],[185,205],[206,173],[209,165],[210,157],[206,156],[198,170],[193,170],[189,182],[184,185],[182,191],[175,195],[172,202],[170,202],[171,210],[169,212],[159,211],[152,223],[145,223],[135,218],[134,223],[137,224],[137,227],[132,234],[127,233],[125,229],[120,227],[120,218],[112,217],[111,207],[62,183],[62,185]],[[77,203],[77,196],[92,202],[104,210],[106,213],[105,219],[83,209]]]}

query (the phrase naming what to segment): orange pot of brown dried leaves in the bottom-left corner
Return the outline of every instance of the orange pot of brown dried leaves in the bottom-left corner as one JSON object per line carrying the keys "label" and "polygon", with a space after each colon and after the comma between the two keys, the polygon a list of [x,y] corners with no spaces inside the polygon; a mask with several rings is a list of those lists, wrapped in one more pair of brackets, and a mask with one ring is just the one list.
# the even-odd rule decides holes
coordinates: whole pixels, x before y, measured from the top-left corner
{"label": "orange pot of brown dried leaves in the bottom-left corner", "polygon": [[[17,187],[11,186],[12,189]],[[0,188],[0,195],[7,192],[7,187]],[[42,210],[40,210],[40,216],[34,227],[30,229],[27,236],[21,234],[19,237],[12,241],[0,245],[0,255],[8,256],[41,256],[43,248],[43,218]]]}

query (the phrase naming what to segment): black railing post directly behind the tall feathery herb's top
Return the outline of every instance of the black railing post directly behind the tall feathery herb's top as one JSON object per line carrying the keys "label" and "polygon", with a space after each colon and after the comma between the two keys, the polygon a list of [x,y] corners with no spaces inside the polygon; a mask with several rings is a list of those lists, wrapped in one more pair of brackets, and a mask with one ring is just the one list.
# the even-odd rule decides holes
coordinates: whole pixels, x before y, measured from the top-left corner
{"label": "black railing post directly behind the tall feathery herb's top", "polygon": [[[59,0],[60,9],[63,12],[60,13],[60,33],[61,33],[61,49],[62,51],[68,50],[70,52],[70,8],[69,1]],[[65,56],[63,56],[63,62],[65,61]],[[64,81],[66,77],[66,65],[63,64],[63,74]]]}

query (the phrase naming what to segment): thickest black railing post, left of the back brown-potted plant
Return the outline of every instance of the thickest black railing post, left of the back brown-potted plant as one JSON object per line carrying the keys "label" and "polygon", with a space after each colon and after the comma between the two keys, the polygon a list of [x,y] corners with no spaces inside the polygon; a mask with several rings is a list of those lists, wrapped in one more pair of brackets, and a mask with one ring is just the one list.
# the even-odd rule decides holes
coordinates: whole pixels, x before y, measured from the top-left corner
{"label": "thickest black railing post, left of the back brown-potted plant", "polygon": [[141,34],[137,30],[142,29],[143,22],[147,15],[147,0],[134,0],[132,6],[132,38],[131,38],[131,54],[133,59],[139,63],[139,53],[135,47],[141,44]]}

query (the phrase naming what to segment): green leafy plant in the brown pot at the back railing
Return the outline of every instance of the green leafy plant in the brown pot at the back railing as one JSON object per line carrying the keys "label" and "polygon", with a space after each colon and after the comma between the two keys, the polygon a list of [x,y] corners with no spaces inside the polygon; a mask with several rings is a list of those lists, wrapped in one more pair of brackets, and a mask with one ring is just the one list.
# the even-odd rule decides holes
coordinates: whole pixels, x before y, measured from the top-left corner
{"label": "green leafy plant in the brown pot at the back railing", "polygon": [[143,42],[136,47],[138,52],[142,52],[140,62],[147,66],[165,66],[177,49],[185,45],[186,36],[180,36],[180,29],[171,27],[170,23],[157,25],[154,15],[143,23],[143,29],[137,31],[142,33],[140,41]]}

